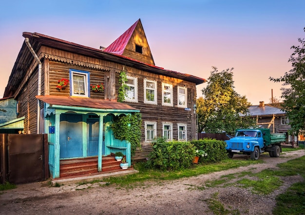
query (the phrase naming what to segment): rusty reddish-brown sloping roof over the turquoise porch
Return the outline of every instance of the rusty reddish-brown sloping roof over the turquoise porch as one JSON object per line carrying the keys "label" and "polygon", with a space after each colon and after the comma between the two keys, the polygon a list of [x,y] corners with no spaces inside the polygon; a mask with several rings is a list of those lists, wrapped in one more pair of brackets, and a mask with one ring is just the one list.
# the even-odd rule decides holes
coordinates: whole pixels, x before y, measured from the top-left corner
{"label": "rusty reddish-brown sloping roof over the turquoise porch", "polygon": [[53,106],[69,106],[69,107],[87,107],[97,109],[124,110],[127,112],[139,112],[138,109],[127,104],[101,100],[92,98],[70,97],[70,96],[55,96],[55,95],[37,95],[37,99]]}

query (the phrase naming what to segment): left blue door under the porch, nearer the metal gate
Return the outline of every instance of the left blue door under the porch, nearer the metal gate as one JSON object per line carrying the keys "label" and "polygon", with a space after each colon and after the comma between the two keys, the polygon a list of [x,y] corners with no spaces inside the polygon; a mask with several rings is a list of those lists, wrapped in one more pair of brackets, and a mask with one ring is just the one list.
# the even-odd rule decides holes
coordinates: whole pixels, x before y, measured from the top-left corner
{"label": "left blue door under the porch, nearer the metal gate", "polygon": [[60,114],[60,158],[83,156],[82,115]]}

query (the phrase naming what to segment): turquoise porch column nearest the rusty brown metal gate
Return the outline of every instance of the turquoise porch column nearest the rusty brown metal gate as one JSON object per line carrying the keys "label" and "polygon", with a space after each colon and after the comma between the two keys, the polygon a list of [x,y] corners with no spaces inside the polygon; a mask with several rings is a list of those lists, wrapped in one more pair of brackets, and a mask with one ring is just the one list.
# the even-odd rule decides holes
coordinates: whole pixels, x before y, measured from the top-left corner
{"label": "turquoise porch column nearest the rusty brown metal gate", "polygon": [[59,124],[60,114],[55,114],[55,147],[54,147],[54,175],[53,178],[59,178],[59,167],[60,167],[60,143],[59,143]]}

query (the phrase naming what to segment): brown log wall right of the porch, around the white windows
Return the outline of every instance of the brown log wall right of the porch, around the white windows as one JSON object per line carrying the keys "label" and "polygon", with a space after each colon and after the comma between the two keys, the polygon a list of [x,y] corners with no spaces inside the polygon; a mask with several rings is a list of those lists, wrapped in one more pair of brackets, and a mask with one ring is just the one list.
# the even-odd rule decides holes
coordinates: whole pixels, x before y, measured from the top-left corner
{"label": "brown log wall right of the porch, around the white windows", "polygon": [[[128,70],[130,71],[130,70]],[[116,94],[118,92],[119,84],[118,77],[116,75]],[[195,114],[192,112],[192,106],[195,104],[196,99],[196,87],[195,84],[186,82],[183,80],[177,80],[174,78],[165,77],[162,75],[151,74],[145,71],[133,73],[131,76],[137,77],[137,96],[138,102],[124,102],[132,107],[140,109],[142,114],[142,126],[141,126],[141,148],[138,148],[133,156],[133,161],[146,160],[148,154],[152,151],[150,143],[145,143],[145,121],[156,122],[156,136],[163,136],[163,124],[172,123],[172,138],[178,140],[178,124],[187,125],[187,140],[191,141],[196,139],[195,132]],[[157,105],[144,103],[144,78],[157,80]],[[173,107],[162,106],[162,83],[170,83],[173,86]],[[185,110],[184,107],[177,107],[177,85],[187,87],[187,107],[191,108],[191,111]]]}

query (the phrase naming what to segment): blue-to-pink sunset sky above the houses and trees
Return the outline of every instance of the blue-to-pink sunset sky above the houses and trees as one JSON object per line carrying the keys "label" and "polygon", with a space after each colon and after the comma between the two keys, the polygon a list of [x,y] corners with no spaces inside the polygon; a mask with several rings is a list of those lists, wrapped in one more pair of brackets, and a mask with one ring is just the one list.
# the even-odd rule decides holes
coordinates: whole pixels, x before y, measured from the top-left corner
{"label": "blue-to-pink sunset sky above the houses and trees", "polygon": [[[0,7],[0,98],[21,45],[37,32],[98,49],[141,19],[156,66],[208,79],[234,68],[235,90],[253,105],[280,99],[269,81],[291,69],[304,38],[305,0],[6,0]],[[197,96],[207,84],[197,86]]]}

